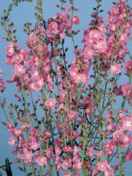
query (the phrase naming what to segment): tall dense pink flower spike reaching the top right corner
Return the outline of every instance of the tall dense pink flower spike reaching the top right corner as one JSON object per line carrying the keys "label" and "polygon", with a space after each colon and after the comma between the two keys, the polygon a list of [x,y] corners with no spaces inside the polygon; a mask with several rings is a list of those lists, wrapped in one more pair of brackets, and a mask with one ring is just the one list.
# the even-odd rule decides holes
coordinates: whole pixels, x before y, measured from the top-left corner
{"label": "tall dense pink flower spike reaching the top right corner", "polygon": [[[127,13],[128,12],[128,13]],[[121,30],[120,30],[121,27]],[[115,33],[120,30],[120,35]],[[126,1],[118,1],[109,11],[109,38],[106,55],[108,58],[114,53],[116,59],[123,59],[128,52],[127,41],[131,30],[131,12],[128,10]],[[118,46],[118,47],[116,47]]]}

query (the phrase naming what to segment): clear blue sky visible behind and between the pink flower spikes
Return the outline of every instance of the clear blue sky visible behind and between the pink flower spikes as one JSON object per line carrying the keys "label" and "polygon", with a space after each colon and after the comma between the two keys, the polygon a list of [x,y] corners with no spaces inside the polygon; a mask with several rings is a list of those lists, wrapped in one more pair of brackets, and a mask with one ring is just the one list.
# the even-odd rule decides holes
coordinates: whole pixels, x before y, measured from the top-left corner
{"label": "clear blue sky visible behind and between the pink flower spikes", "polygon": [[[0,0],[0,16],[4,10],[4,8],[7,7],[11,0]],[[76,6],[79,9],[79,16],[81,18],[81,25],[80,25],[80,30],[84,30],[87,28],[89,20],[90,20],[90,14],[92,12],[92,8],[95,6],[95,0],[75,0],[76,1]],[[47,19],[48,17],[52,17],[56,14],[57,4],[58,0],[44,0],[44,16]],[[132,0],[128,0],[129,4],[132,6]],[[107,17],[106,12],[112,5],[112,0],[103,0],[103,9],[104,13],[103,15],[105,16],[105,19]],[[24,22],[29,22],[32,21],[33,23],[35,22],[34,14],[33,14],[33,8],[34,6],[31,5],[31,3],[22,3],[19,7],[14,9],[14,12],[11,14],[12,20],[15,22],[16,27],[17,27],[17,37],[19,39],[19,43],[21,46],[25,45],[25,34],[23,33],[23,24]],[[6,42],[1,40],[3,33],[2,29],[0,28],[0,68],[3,69],[4,75],[6,78],[11,74],[11,69],[9,66],[5,65],[5,45]],[[76,42],[80,42],[81,38],[77,38]],[[70,43],[69,43],[70,44]],[[129,45],[129,48],[132,49],[132,46]],[[72,57],[72,54],[69,55],[69,57]],[[6,96],[10,99],[10,95],[13,91],[13,88],[9,88]],[[3,119],[3,114],[0,112],[0,119]],[[4,161],[5,157],[12,157],[10,154],[10,147],[7,144],[8,140],[8,134],[4,127],[0,125],[0,163]],[[132,175],[132,169],[130,169],[130,166],[127,165],[126,170],[127,176]],[[14,168],[15,170],[15,168]],[[21,176],[18,171],[15,170],[15,176],[19,175]]]}

